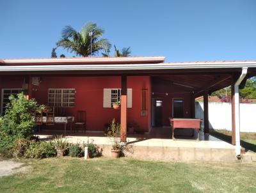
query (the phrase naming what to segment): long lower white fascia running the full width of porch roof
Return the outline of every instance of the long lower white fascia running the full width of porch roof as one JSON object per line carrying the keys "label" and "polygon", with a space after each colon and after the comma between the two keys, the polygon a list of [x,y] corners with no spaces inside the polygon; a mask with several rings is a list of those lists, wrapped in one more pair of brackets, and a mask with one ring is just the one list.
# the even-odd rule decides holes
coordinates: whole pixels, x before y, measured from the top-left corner
{"label": "long lower white fascia running the full width of porch roof", "polygon": [[207,68],[256,68],[256,62],[227,63],[157,63],[157,64],[105,64],[105,65],[0,65],[0,72],[22,71],[90,71],[90,70],[175,70],[175,69],[207,69]]}

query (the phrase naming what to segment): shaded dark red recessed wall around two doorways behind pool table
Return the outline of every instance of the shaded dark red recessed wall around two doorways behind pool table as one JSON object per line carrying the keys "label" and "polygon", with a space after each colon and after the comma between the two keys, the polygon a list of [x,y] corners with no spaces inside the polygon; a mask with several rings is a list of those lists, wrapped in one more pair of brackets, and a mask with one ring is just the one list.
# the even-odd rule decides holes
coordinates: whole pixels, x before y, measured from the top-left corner
{"label": "shaded dark red recessed wall around two doorways behind pool table", "polygon": [[152,79],[151,92],[152,98],[163,99],[163,126],[170,126],[169,118],[172,117],[173,98],[183,98],[184,118],[191,118],[191,93],[186,91],[186,88],[183,86],[176,86],[169,81],[159,81],[157,79]]}

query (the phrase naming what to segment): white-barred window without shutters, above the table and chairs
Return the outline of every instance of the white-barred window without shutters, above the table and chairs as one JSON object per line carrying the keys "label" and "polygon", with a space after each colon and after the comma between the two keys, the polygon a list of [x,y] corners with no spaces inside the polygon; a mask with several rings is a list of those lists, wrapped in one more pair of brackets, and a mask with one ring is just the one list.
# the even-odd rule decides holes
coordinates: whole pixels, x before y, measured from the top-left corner
{"label": "white-barred window without shutters, above the table and chairs", "polygon": [[49,88],[48,105],[51,107],[74,107],[75,106],[74,88]]}

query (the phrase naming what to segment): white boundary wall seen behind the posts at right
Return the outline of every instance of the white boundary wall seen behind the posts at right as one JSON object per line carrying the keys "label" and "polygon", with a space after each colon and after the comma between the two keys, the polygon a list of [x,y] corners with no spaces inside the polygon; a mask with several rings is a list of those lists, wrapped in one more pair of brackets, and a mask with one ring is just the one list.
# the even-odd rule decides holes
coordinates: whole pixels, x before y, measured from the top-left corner
{"label": "white boundary wall seen behind the posts at right", "polygon": [[[204,102],[196,102],[195,111],[204,119]],[[256,104],[240,104],[240,121],[241,132],[256,132]],[[230,103],[209,102],[209,128],[232,130]]]}

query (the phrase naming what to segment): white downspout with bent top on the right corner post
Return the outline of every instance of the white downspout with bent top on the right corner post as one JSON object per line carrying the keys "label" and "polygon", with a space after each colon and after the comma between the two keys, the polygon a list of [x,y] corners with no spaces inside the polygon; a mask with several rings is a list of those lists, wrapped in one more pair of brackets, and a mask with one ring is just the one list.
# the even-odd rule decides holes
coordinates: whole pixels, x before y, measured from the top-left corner
{"label": "white downspout with bent top on the right corner post", "polygon": [[239,85],[247,74],[247,67],[243,67],[242,73],[235,83],[235,112],[236,112],[236,157],[241,158],[240,145],[240,107],[239,107]]}

